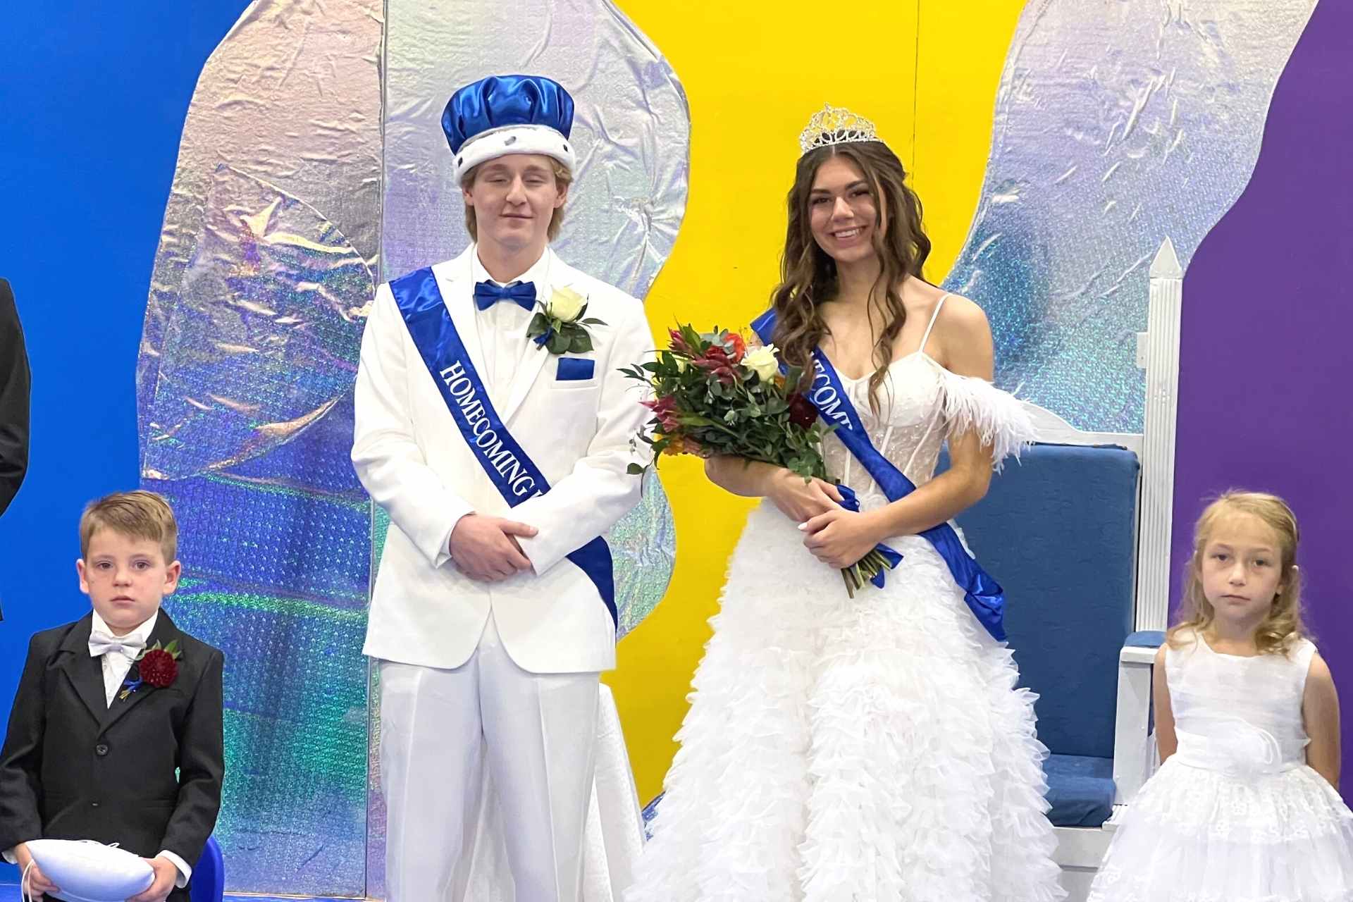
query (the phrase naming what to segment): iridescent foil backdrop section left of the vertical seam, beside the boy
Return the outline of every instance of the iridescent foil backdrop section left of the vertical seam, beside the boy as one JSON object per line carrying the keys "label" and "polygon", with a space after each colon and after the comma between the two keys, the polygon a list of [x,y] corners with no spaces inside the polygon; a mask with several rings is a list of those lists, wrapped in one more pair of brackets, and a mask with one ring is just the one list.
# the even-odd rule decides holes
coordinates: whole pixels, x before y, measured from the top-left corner
{"label": "iridescent foil backdrop section left of the vertical seam, beside the boy", "polygon": [[231,888],[360,895],[371,504],[352,380],[380,226],[379,0],[252,4],[203,68],[138,369],[168,604],[226,655]]}

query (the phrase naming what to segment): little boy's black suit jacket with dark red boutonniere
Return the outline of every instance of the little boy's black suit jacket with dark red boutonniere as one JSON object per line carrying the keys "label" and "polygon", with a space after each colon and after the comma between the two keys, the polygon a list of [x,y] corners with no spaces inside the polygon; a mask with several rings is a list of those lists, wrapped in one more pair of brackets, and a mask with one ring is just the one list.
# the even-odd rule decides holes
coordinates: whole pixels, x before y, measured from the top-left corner
{"label": "little boy's black suit jacket with dark red boutonniere", "polygon": [[222,655],[161,610],[146,648],[177,640],[177,678],[110,707],[103,663],[89,656],[92,622],[87,614],[28,644],[0,749],[0,849],[97,840],[143,857],[168,849],[195,867],[221,807]]}

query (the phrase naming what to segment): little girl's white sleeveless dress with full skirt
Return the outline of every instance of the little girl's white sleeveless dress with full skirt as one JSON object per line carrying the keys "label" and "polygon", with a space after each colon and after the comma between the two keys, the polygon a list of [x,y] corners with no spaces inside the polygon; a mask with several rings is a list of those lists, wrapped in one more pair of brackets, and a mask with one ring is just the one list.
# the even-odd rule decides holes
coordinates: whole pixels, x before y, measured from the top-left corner
{"label": "little girl's white sleeveless dress with full skirt", "polygon": [[1178,751],[1118,818],[1091,902],[1353,902],[1353,813],[1306,764],[1315,646],[1166,646]]}

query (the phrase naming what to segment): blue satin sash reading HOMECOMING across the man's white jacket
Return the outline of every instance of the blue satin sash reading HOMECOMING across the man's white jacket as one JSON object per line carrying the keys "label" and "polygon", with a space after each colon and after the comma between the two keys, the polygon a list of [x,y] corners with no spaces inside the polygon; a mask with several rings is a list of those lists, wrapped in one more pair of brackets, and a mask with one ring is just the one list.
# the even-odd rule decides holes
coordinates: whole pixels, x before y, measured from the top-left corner
{"label": "blue satin sash reading HOMECOMING across the man's white jacket", "polygon": [[[488,392],[469,362],[469,354],[451,321],[451,311],[441,299],[432,269],[418,269],[395,279],[390,283],[390,291],[428,375],[437,384],[441,399],[456,421],[456,429],[498,494],[510,507],[515,507],[528,498],[548,492],[549,481],[545,475],[511,437],[488,400]],[[616,579],[606,540],[598,536],[567,557],[597,587],[614,623]]]}

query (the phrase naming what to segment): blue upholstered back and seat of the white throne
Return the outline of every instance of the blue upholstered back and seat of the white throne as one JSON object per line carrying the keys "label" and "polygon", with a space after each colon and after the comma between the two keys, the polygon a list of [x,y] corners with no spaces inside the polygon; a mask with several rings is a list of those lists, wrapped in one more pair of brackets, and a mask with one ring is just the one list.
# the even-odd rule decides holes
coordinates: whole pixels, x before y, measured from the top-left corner
{"label": "blue upholstered back and seat of the white throne", "polygon": [[1118,446],[1034,445],[958,518],[977,560],[1005,588],[1020,686],[1039,696],[1038,737],[1053,753],[1045,772],[1057,826],[1100,826],[1112,813],[1138,468],[1137,454]]}

